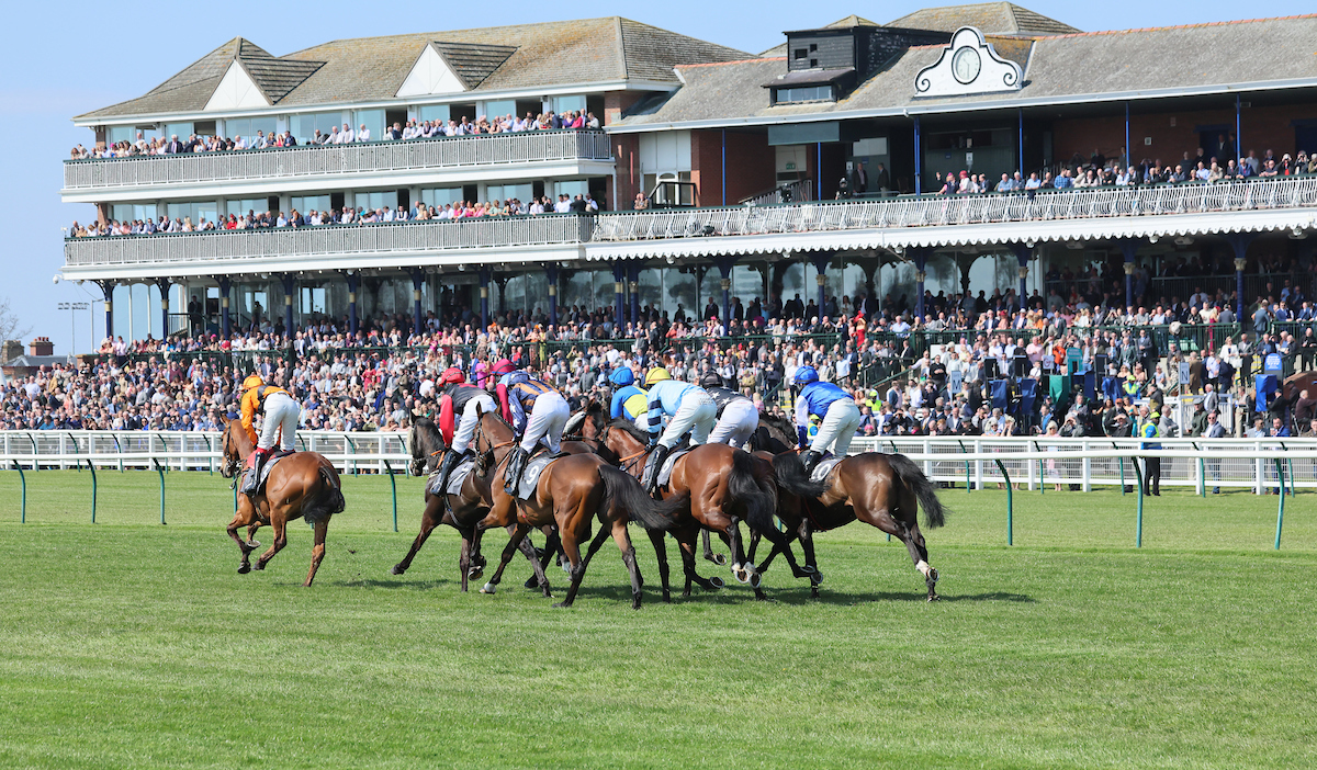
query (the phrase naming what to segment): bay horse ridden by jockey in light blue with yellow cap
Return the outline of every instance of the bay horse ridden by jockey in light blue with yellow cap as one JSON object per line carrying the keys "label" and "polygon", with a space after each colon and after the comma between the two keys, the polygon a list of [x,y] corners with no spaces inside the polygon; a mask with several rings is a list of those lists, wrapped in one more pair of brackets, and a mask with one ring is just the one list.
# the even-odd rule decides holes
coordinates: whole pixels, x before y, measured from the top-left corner
{"label": "bay horse ridden by jockey in light blue with yellow cap", "polygon": [[[645,457],[652,451],[647,448],[648,436],[628,420],[612,420],[599,426],[601,420],[602,415],[599,420],[585,420],[582,429],[586,436],[591,437],[590,434],[598,430],[593,437],[622,461],[623,470],[640,476],[644,473]],[[661,490],[661,494],[664,498],[668,495],[690,498],[689,516],[678,517],[677,525],[670,530],[681,544],[682,566],[686,573],[685,595],[690,594],[691,580],[701,582],[694,573],[695,533],[701,526],[718,532],[732,549],[732,575],[741,583],[749,583],[756,599],[766,596],[760,587],[759,570],[745,557],[739,526],[741,521],[745,521],[752,533],[760,533],[774,545],[782,546],[782,553],[786,554],[797,578],[813,578],[810,569],[795,565],[786,537],[773,523],[773,513],[778,509],[780,501],[778,486],[784,484],[782,478],[786,479],[785,486],[789,491],[805,495],[823,492],[822,486],[811,484],[809,479],[777,474],[773,461],[732,449],[726,444],[705,444],[677,458],[668,488]]]}

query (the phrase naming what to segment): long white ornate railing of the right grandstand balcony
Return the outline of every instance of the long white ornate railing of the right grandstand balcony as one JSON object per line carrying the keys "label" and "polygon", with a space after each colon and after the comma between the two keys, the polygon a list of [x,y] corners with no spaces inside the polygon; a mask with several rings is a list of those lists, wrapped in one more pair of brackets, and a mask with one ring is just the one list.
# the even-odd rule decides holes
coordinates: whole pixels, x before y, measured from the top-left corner
{"label": "long white ornate railing of the right grandstand balcony", "polygon": [[599,217],[593,240],[608,242],[689,236],[763,236],[1300,207],[1317,207],[1317,176],[1059,190],[1039,191],[1035,195],[925,195],[894,200],[622,212]]}

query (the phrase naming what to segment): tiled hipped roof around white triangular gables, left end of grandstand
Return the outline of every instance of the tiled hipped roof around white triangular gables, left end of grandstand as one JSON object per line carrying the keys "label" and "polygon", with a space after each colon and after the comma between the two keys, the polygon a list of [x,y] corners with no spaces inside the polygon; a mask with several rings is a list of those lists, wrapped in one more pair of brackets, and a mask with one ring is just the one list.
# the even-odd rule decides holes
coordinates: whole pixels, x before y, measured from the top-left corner
{"label": "tiled hipped roof around white triangular gables, left end of grandstand", "polygon": [[[338,39],[284,57],[271,57],[252,42],[234,38],[145,96],[78,117],[199,112],[236,57],[279,105],[391,100],[431,43],[449,59],[458,76],[474,83],[475,91],[622,79],[676,83],[672,71],[676,64],[751,55],[615,16]],[[495,63],[503,51],[508,54]]]}

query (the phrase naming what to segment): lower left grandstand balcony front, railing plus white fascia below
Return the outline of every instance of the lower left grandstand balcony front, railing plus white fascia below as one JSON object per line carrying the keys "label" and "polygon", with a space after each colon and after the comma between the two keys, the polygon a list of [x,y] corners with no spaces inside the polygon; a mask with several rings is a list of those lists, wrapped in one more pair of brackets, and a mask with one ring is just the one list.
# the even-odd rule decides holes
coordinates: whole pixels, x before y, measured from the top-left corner
{"label": "lower left grandstand balcony front, railing plus white fascia below", "polygon": [[594,217],[540,215],[65,241],[70,279],[578,259]]}

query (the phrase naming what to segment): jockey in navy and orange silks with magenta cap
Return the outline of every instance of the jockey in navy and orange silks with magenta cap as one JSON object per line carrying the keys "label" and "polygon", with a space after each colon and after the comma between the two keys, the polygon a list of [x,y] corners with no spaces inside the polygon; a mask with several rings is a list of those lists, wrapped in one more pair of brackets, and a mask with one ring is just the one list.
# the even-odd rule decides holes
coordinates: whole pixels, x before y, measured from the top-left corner
{"label": "jockey in navy and orange silks with magenta cap", "polygon": [[543,442],[553,454],[562,449],[562,428],[572,416],[572,408],[562,394],[524,371],[516,371],[507,358],[494,365],[494,375],[499,378],[495,391],[503,405],[503,417],[522,436],[503,470],[503,490],[515,496],[535,446]]}

